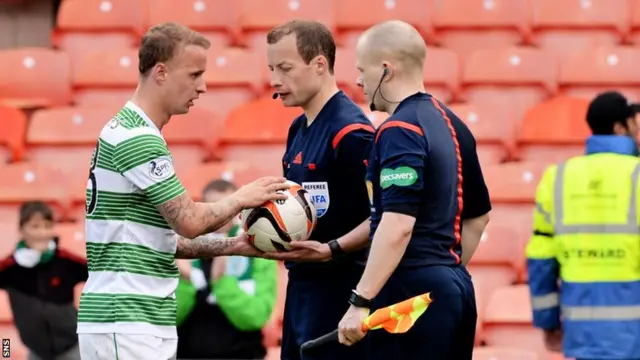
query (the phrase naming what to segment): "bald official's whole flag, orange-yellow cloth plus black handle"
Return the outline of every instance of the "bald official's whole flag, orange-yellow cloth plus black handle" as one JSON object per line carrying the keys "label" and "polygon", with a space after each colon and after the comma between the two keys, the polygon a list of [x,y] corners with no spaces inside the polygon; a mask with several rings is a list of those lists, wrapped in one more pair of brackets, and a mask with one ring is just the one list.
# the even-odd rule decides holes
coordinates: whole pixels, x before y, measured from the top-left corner
{"label": "bald official's whole flag, orange-yellow cloth plus black handle", "polygon": [[[385,329],[392,334],[406,333],[416,323],[416,320],[424,314],[431,302],[431,293],[425,293],[378,309],[364,319],[362,331]],[[305,342],[300,347],[300,352],[306,353],[336,341],[338,341],[337,329],[317,339]]]}

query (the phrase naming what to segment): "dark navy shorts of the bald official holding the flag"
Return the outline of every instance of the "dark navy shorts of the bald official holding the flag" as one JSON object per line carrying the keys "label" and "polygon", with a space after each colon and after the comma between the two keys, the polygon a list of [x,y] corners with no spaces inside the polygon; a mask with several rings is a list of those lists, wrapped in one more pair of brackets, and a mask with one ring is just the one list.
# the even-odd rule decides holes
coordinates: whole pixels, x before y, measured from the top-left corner
{"label": "dark navy shorts of the bald official holding the flag", "polygon": [[376,297],[376,308],[431,292],[433,302],[404,334],[372,330],[372,360],[471,360],[476,332],[476,301],[464,267],[399,269]]}

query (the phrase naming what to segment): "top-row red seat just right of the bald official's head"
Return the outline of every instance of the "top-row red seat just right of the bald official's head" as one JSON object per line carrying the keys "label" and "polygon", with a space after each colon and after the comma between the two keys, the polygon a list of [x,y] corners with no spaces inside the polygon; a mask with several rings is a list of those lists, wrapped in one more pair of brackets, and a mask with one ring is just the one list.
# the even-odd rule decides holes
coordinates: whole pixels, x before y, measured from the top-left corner
{"label": "top-row red seat just right of the bald official's head", "polygon": [[461,58],[477,50],[529,40],[529,0],[447,0],[435,4],[433,23],[438,42]]}

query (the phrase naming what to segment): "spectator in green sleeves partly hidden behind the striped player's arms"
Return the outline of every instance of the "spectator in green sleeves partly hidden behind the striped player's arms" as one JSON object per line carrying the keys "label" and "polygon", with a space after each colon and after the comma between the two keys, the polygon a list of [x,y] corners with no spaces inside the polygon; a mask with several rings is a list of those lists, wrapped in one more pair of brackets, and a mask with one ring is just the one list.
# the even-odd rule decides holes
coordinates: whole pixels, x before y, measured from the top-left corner
{"label": "spectator in green sleeves partly hidden behind the striped player's arms", "polygon": [[[215,202],[236,186],[214,180],[202,200]],[[242,231],[230,221],[217,233]],[[277,293],[276,263],[242,256],[176,260],[179,359],[263,359],[262,328],[271,316]]]}

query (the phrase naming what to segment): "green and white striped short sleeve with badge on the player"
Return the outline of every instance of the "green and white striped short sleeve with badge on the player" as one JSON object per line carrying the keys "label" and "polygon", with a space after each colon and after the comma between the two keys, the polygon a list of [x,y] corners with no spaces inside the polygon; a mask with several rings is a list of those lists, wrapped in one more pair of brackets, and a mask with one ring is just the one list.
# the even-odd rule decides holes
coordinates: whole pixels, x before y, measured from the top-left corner
{"label": "green and white striped short sleeve with badge on the player", "polygon": [[114,164],[118,172],[142,190],[153,205],[182,195],[167,144],[158,135],[142,134],[115,147]]}

